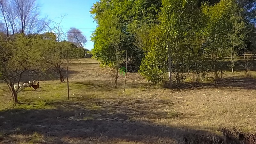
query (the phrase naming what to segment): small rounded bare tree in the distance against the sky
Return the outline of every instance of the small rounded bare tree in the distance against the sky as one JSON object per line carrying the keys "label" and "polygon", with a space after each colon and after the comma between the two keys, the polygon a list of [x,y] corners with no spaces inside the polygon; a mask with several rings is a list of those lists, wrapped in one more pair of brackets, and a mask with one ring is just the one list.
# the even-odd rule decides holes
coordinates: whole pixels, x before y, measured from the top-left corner
{"label": "small rounded bare tree in the distance against the sky", "polygon": [[68,41],[72,42],[73,44],[75,44],[77,47],[84,47],[83,44],[87,43],[87,38],[86,36],[84,36],[81,32],[81,30],[77,29],[77,28],[73,28],[71,27],[68,30],[68,34],[67,34],[67,38]]}

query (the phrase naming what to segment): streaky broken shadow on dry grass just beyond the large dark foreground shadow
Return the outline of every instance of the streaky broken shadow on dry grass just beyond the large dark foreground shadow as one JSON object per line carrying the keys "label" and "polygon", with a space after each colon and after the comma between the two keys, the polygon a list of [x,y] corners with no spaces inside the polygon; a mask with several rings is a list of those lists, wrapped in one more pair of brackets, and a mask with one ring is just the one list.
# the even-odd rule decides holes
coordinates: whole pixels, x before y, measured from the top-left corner
{"label": "streaky broken shadow on dry grass just beyond the large dark foreground shadow", "polygon": [[[196,114],[187,114],[173,111],[158,111],[157,109],[172,108],[174,103],[172,101],[164,100],[103,100],[98,98],[84,99],[83,102],[48,102],[48,105],[55,108],[69,108],[69,109],[83,109],[91,110],[101,113],[100,118],[109,118],[109,114],[124,114],[126,117],[143,117],[145,119],[179,119],[195,116]],[[99,112],[100,110],[100,112]],[[126,118],[128,119],[128,118]]]}

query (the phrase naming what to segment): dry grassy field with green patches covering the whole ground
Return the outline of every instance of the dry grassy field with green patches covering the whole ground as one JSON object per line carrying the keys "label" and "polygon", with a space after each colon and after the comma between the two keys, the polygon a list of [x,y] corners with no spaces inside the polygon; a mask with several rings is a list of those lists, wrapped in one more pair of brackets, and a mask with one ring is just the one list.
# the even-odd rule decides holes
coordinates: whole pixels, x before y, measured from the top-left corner
{"label": "dry grassy field with green patches covering the whole ground", "polygon": [[256,143],[256,76],[226,73],[217,85],[162,89],[128,73],[100,68],[94,59],[72,60],[67,83],[40,80],[13,105],[0,84],[0,143]]}

